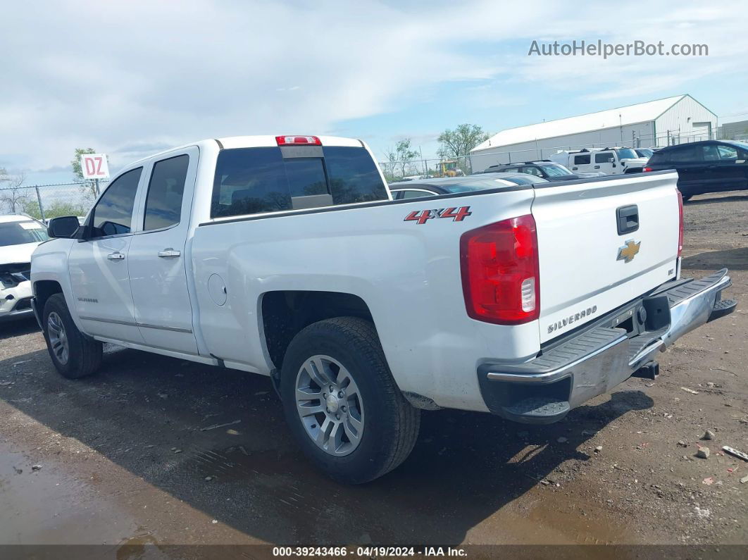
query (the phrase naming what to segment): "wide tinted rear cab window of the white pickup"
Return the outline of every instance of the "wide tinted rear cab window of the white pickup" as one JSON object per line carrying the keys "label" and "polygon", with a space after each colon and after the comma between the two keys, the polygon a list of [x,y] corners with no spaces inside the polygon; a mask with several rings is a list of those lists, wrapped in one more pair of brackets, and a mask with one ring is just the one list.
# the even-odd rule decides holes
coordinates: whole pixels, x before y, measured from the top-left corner
{"label": "wide tinted rear cab window of the white pickup", "polygon": [[221,150],[210,217],[387,200],[363,147],[254,147]]}

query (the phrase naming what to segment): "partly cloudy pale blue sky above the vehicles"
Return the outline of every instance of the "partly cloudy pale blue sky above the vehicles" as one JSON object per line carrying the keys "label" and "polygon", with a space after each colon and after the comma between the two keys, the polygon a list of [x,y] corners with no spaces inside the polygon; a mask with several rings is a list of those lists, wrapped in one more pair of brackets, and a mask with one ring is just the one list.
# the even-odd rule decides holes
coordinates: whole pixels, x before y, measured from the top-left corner
{"label": "partly cloudy pale blue sky above the vehicles", "polygon": [[[7,2],[0,167],[73,179],[168,147],[253,134],[340,135],[378,159],[402,138],[487,132],[690,93],[748,120],[748,10],[735,2]],[[708,56],[530,56],[539,43],[704,43]]]}

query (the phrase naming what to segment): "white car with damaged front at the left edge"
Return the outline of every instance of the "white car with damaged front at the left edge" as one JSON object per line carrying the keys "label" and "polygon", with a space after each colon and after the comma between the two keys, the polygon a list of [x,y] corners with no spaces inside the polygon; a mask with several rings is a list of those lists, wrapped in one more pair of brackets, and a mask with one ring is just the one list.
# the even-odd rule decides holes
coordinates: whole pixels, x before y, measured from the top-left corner
{"label": "white car with damaged front at the left edge", "polygon": [[31,253],[47,239],[40,221],[26,215],[0,215],[0,321],[33,315]]}

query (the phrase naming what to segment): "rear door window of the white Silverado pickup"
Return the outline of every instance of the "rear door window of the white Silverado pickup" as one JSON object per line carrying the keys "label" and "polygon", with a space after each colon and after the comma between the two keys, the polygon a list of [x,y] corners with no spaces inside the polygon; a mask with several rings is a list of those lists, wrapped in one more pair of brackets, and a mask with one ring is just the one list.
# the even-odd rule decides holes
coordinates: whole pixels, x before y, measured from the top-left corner
{"label": "rear door window of the white Silverado pickup", "polygon": [[145,200],[144,230],[160,230],[180,223],[188,165],[187,154],[153,164]]}

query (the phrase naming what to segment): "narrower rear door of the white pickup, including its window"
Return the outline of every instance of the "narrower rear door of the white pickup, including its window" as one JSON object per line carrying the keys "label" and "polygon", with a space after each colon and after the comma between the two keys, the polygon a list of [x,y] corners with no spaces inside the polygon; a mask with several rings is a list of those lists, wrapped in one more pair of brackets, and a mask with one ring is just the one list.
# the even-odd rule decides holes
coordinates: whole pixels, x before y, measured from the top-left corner
{"label": "narrower rear door of the white pickup, including its window", "polygon": [[196,147],[155,161],[141,197],[129,251],[135,320],[146,344],[197,354],[187,287],[185,241],[194,189]]}

